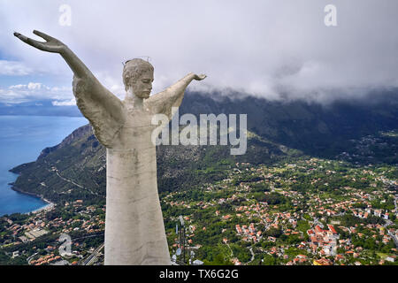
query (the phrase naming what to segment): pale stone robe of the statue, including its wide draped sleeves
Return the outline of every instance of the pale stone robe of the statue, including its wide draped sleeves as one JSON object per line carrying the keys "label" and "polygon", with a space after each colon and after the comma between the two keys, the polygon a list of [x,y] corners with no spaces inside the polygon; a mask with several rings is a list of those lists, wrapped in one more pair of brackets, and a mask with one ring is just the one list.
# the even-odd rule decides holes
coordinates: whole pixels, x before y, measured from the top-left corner
{"label": "pale stone robe of the statue, including its wide draped sleeves", "polygon": [[[106,147],[105,264],[171,264],[157,192],[156,146],[151,142],[156,126],[151,119],[156,113],[171,119],[176,99],[165,91],[147,99],[142,110],[131,109],[97,81],[80,78],[73,78],[73,94]],[[109,111],[109,104],[119,109],[119,115]]]}

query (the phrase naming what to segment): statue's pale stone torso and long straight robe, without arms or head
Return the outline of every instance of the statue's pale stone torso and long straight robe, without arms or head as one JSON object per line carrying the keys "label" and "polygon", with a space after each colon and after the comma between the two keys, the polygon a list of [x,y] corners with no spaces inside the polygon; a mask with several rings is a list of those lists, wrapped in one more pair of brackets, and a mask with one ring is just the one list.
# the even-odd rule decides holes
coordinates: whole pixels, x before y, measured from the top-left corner
{"label": "statue's pale stone torso and long straight robe, without arms or head", "polygon": [[157,194],[152,113],[126,106],[125,122],[107,148],[105,264],[170,264]]}

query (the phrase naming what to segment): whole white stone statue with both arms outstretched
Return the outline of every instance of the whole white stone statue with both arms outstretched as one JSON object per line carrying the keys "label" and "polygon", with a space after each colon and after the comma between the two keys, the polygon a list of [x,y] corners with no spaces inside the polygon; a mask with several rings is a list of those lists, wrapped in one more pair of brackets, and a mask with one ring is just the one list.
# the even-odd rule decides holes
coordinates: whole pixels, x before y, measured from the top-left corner
{"label": "whole white stone statue with both arms outstretched", "polygon": [[192,80],[187,76],[150,96],[153,66],[142,59],[126,62],[123,82],[126,98],[120,101],[96,79],[63,42],[34,31],[46,42],[14,33],[22,42],[60,54],[71,67],[73,94],[81,113],[106,147],[105,264],[171,264],[165,225],[157,193],[156,147],[151,134],[154,114],[172,119]]}

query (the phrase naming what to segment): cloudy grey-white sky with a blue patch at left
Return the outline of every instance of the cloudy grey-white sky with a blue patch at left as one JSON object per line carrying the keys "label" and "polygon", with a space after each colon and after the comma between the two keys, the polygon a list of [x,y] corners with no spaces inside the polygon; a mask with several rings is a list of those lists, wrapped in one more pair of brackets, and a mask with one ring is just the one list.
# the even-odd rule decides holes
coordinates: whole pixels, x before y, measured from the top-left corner
{"label": "cloudy grey-white sky with a blue patch at left", "polygon": [[[325,25],[335,7],[335,26]],[[122,62],[149,57],[153,93],[189,72],[189,89],[329,102],[398,87],[396,0],[0,0],[0,103],[71,105],[73,73],[20,42],[64,42],[123,99]]]}

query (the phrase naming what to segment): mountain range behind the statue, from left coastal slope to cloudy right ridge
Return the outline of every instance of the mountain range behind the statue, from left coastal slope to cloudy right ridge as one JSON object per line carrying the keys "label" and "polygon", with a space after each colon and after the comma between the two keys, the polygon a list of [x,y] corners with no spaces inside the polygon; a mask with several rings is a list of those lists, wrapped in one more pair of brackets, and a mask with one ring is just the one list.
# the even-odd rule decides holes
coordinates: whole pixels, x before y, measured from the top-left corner
{"label": "mountain range behind the statue, from left coastal slope to cloudy right ridge", "polygon": [[[158,189],[172,191],[221,180],[236,162],[273,164],[302,155],[336,158],[356,149],[358,141],[369,135],[379,139],[379,144],[387,144],[387,148],[372,145],[371,161],[396,164],[397,136],[382,133],[398,128],[398,92],[364,101],[367,103],[344,100],[322,105],[268,101],[237,93],[187,93],[180,115],[247,113],[248,150],[245,155],[231,156],[229,146],[158,146]],[[369,162],[369,154],[359,158],[363,151],[356,149],[356,160]],[[43,149],[35,162],[11,170],[19,173],[14,189],[56,203],[76,199],[103,202],[105,171],[105,149],[90,126],[82,126],[57,146]]]}

